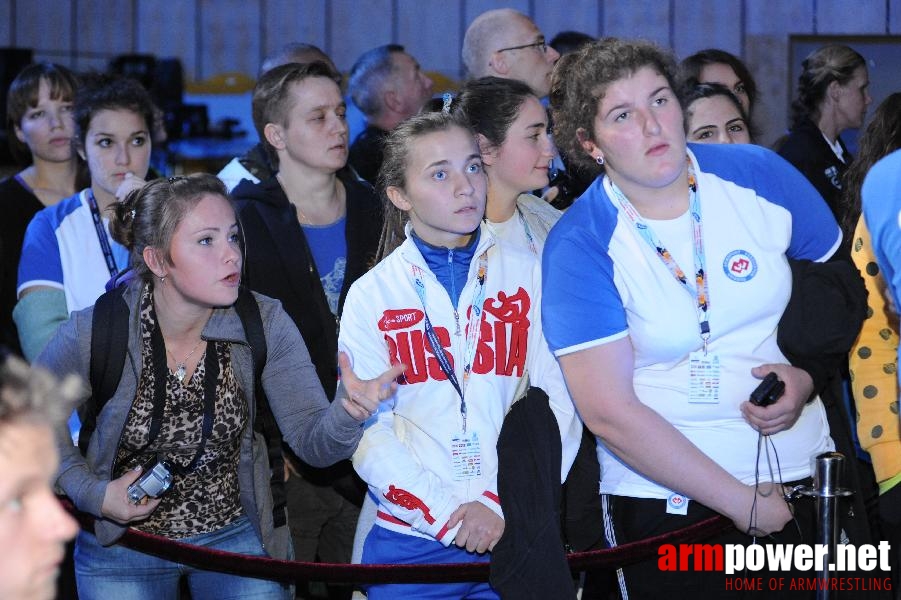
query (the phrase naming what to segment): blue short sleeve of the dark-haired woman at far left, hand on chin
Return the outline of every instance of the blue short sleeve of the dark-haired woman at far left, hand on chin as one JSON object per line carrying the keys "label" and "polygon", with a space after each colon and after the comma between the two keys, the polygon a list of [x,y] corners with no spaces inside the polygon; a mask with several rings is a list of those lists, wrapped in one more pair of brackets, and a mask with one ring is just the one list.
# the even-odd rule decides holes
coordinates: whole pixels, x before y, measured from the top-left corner
{"label": "blue short sleeve of the dark-haired woman at far left, hand on chin", "polygon": [[63,265],[56,238],[58,213],[58,206],[47,207],[38,211],[28,224],[22,244],[22,258],[19,259],[17,294],[38,285],[63,289]]}

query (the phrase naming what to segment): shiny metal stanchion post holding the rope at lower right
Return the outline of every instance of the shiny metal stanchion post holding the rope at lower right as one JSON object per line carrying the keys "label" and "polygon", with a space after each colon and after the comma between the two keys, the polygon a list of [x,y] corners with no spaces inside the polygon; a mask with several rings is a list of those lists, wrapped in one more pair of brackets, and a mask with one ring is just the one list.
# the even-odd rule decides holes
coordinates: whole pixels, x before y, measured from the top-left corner
{"label": "shiny metal stanchion post holding the rope at lower right", "polygon": [[[845,457],[838,452],[824,452],[813,459],[813,486],[797,490],[817,501],[817,544],[826,546],[828,553],[823,568],[817,572],[820,580],[829,578],[829,565],[835,560],[838,541],[838,499],[854,492],[839,487]],[[817,600],[829,599],[829,586],[817,586]]]}

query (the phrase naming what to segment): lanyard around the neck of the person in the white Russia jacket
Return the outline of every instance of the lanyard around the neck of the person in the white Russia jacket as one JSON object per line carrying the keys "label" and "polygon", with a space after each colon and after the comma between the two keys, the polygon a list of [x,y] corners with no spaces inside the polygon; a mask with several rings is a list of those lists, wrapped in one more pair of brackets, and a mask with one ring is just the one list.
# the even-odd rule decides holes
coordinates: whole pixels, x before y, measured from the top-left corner
{"label": "lanyard around the neck of the person in the white Russia jacket", "polygon": [[[416,265],[412,266],[413,283],[416,287],[416,293],[419,295],[419,301],[422,302],[422,310],[425,314],[425,335],[432,346],[432,352],[441,370],[447,376],[447,380],[451,382],[457,395],[460,396],[460,415],[463,417],[463,432],[466,433],[466,384],[469,382],[469,375],[472,372],[472,361],[475,359],[476,347],[479,343],[479,333],[481,330],[482,305],[485,303],[485,280],[488,277],[488,252],[482,252],[479,256],[479,271],[477,279],[478,288],[473,293],[473,300],[469,306],[469,326],[466,330],[466,348],[463,353],[463,385],[460,385],[457,374],[451,367],[447,355],[438,340],[438,334],[432,327],[432,321],[429,319],[429,312],[426,309],[425,301],[425,283],[422,280],[422,269]],[[453,277],[453,273],[451,273]]]}

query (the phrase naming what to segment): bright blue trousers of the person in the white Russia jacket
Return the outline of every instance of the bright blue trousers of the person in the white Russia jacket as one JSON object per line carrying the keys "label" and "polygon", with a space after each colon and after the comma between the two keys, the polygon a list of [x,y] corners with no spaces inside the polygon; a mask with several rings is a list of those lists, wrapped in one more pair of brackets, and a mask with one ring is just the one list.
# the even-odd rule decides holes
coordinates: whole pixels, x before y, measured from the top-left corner
{"label": "bright blue trousers of the person in the white Russia jacket", "polygon": [[[404,535],[373,526],[363,546],[363,564],[441,564],[488,562],[491,554],[467,552],[451,545],[447,548],[437,540]],[[499,600],[500,596],[488,583],[379,583],[364,586],[368,600],[396,598],[457,600]]]}

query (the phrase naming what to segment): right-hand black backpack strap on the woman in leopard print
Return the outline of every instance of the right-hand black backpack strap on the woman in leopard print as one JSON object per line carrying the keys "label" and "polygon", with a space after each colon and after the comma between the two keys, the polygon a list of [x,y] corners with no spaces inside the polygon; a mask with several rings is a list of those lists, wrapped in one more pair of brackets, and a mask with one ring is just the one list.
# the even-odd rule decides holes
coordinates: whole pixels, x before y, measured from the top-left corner
{"label": "right-hand black backpack strap on the woman in leopard print", "polygon": [[285,458],[282,454],[282,434],[275,422],[269,399],[263,390],[263,368],[266,366],[266,336],[263,333],[263,319],[260,307],[250,290],[241,288],[235,302],[235,312],[244,326],[244,334],[250,344],[253,357],[253,386],[256,401],[254,429],[263,434],[269,452],[269,484],[272,488],[272,519],[275,527],[288,522],[285,494]]}

